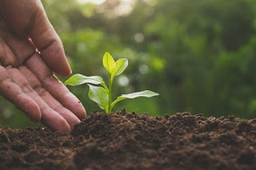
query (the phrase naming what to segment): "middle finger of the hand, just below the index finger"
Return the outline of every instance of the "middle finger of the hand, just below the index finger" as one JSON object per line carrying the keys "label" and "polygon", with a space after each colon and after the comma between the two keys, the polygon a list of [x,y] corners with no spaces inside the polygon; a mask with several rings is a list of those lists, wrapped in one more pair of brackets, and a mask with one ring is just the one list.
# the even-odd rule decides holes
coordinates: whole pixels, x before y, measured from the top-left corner
{"label": "middle finger of the hand, just below the index finger", "polygon": [[56,99],[46,91],[46,89],[42,88],[40,81],[34,75],[34,73],[30,71],[30,69],[27,69],[26,66],[20,66],[18,69],[24,75],[24,77],[26,77],[26,80],[29,82],[30,86],[38,93],[42,100],[45,101],[50,108],[54,109],[57,113],[64,117],[72,129],[74,128],[74,125],[80,122],[74,113],[72,113],[69,109],[64,108],[62,104],[56,101]]}

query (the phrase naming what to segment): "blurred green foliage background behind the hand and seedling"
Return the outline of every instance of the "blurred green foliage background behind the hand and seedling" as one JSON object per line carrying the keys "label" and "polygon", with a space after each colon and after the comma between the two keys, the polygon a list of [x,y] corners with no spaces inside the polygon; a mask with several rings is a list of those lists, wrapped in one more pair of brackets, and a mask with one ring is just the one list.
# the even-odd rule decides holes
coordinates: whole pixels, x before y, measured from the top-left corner
{"label": "blurred green foliage background behind the hand and seedling", "polygon": [[[93,3],[92,3],[93,2]],[[256,117],[255,0],[42,0],[73,73],[106,78],[102,56],[126,57],[114,97],[150,89],[153,98],[120,102],[136,113],[188,111],[206,116]],[[67,78],[61,78],[65,81]],[[69,87],[87,113],[101,111],[88,87]],[[58,89],[56,89],[58,90]],[[33,125],[0,99],[0,123]]]}

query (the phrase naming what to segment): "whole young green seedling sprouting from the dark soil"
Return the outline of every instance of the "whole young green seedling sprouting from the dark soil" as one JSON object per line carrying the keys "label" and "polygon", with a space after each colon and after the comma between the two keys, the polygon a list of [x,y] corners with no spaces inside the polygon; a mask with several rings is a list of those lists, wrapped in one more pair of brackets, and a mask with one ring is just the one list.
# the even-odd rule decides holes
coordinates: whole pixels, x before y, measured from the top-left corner
{"label": "whole young green seedling sprouting from the dark soil", "polygon": [[[74,76],[70,77],[67,81],[65,81],[65,85],[89,85],[89,98],[90,100],[96,102],[101,109],[104,109],[107,114],[110,114],[112,108],[118,101],[122,101],[124,99],[131,99],[136,97],[154,97],[158,96],[158,93],[154,93],[150,90],[145,90],[142,92],[130,93],[130,94],[122,94],[115,101],[112,102],[112,83],[114,81],[114,77],[121,74],[128,65],[128,60],[126,58],[121,58],[118,61],[114,61],[113,57],[110,53],[105,53],[103,56],[103,65],[106,68],[106,71],[109,75],[109,87],[106,86],[102,77],[99,76],[91,76],[86,77],[82,74],[74,74]],[[102,85],[95,86],[95,85]]]}

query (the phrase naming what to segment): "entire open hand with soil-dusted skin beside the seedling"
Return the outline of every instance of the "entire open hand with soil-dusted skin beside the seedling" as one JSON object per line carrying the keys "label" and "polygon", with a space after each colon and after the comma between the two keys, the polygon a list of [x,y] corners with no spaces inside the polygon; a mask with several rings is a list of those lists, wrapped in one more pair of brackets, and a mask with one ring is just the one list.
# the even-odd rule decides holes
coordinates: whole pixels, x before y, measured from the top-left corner
{"label": "entire open hand with soil-dusted skin beside the seedling", "polygon": [[40,0],[0,0],[0,95],[31,121],[70,132],[86,109],[54,73],[71,69]]}

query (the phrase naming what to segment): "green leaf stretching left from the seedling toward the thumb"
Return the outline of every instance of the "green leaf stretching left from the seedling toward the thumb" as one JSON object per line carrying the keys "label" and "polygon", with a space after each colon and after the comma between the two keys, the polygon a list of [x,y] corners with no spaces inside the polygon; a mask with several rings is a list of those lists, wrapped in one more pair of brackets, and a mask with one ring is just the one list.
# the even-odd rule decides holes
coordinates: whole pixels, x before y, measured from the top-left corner
{"label": "green leaf stretching left from the seedling toward the thumb", "polygon": [[74,74],[74,76],[70,77],[67,81],[65,81],[65,85],[82,85],[85,83],[90,83],[93,85],[105,85],[102,77],[99,76],[91,76],[91,77],[86,77],[82,74]]}

